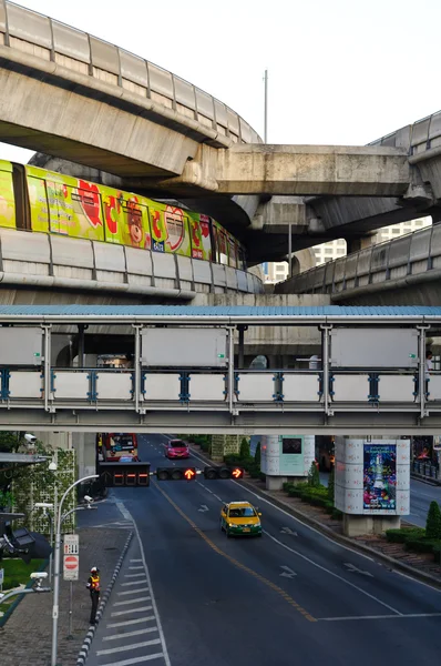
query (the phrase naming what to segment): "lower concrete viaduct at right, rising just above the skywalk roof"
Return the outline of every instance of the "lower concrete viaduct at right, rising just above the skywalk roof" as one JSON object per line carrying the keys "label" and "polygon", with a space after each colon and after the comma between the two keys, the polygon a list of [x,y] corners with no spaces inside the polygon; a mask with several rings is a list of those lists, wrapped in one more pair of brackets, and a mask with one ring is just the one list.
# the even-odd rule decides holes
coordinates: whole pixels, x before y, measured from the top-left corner
{"label": "lower concrete viaduct at right, rising just above the skywalk roof", "polygon": [[275,285],[351,305],[441,305],[441,224],[372,245]]}

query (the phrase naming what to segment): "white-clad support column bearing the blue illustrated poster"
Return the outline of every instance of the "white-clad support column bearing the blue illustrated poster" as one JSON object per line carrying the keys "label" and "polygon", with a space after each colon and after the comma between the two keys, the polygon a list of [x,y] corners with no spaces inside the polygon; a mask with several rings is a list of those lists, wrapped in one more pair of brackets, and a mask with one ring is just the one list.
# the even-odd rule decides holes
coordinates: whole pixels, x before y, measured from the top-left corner
{"label": "white-clad support column bearing the blue illustrated poster", "polygon": [[399,527],[410,513],[410,440],[336,437],[335,488],[347,536]]}

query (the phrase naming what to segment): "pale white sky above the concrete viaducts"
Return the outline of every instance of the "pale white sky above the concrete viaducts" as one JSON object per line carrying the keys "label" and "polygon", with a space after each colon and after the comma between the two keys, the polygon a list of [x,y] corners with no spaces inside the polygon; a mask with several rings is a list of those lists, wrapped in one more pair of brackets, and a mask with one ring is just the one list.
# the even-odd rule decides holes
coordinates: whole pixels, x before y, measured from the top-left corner
{"label": "pale white sky above the concrete viaducts", "polygon": [[[441,108],[440,0],[21,0],[217,97],[268,143],[362,145]],[[3,159],[29,151],[0,144]]]}

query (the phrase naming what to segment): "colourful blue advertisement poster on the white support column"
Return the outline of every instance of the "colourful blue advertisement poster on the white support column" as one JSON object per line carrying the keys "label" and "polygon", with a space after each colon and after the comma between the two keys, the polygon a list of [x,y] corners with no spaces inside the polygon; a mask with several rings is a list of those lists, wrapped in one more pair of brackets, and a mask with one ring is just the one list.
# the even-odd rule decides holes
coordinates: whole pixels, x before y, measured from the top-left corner
{"label": "colourful blue advertisement poster on the white support column", "polygon": [[397,509],[397,453],[391,444],[363,446],[363,509]]}

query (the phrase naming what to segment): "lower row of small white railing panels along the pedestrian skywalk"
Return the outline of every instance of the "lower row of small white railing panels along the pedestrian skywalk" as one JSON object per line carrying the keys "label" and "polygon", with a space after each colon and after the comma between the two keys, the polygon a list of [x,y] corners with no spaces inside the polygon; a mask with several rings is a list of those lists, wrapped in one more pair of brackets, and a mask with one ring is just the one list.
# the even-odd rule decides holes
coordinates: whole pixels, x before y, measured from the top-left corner
{"label": "lower row of small white railing panels along the pedestrian skywalk", "polygon": [[[50,369],[0,371],[0,411],[40,408],[229,411],[420,410],[418,372],[332,371],[325,389],[324,371],[225,371]],[[441,411],[441,373],[423,386],[423,402]]]}

